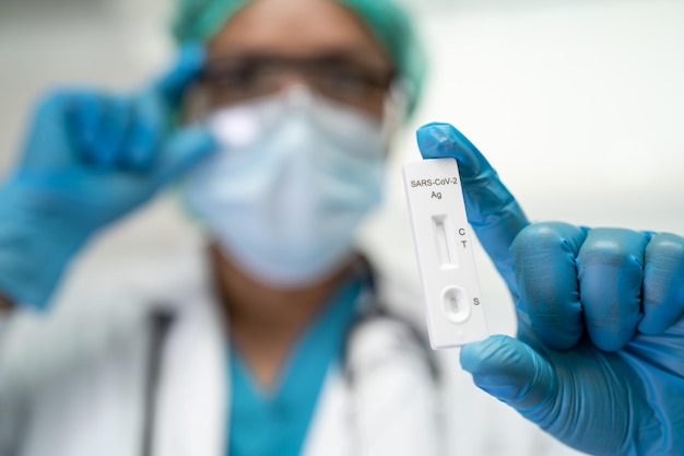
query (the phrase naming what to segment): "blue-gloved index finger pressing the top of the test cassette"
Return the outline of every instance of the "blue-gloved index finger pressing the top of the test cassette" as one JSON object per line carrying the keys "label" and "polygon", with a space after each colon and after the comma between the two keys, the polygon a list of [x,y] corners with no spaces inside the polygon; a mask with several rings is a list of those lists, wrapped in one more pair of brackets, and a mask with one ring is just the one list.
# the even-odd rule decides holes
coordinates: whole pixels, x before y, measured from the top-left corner
{"label": "blue-gloved index finger pressing the top of the test cassette", "polygon": [[449,124],[428,124],[417,130],[424,159],[453,157],[458,161],[468,221],[515,294],[516,281],[510,245],[529,223],[516,198],[498,175],[460,131]]}

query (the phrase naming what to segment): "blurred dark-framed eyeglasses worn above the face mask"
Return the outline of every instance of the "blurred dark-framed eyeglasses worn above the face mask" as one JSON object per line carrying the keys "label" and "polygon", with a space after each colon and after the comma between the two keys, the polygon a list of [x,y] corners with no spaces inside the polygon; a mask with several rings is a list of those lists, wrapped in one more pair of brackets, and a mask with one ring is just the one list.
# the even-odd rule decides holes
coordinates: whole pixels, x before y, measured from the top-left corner
{"label": "blurred dark-framed eyeglasses worn above the face mask", "polygon": [[199,83],[212,107],[270,95],[303,82],[328,98],[370,113],[381,112],[394,72],[349,57],[247,56],[210,61]]}

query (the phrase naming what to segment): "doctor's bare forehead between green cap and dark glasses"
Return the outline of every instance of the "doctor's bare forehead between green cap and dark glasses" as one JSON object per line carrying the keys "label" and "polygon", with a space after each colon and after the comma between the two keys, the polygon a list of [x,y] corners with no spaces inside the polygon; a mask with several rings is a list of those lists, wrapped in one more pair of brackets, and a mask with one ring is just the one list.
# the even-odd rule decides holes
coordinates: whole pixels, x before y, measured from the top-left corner
{"label": "doctor's bare forehead between green cap and dark glasses", "polygon": [[212,58],[335,52],[390,65],[362,19],[335,0],[252,0],[212,38],[209,52]]}

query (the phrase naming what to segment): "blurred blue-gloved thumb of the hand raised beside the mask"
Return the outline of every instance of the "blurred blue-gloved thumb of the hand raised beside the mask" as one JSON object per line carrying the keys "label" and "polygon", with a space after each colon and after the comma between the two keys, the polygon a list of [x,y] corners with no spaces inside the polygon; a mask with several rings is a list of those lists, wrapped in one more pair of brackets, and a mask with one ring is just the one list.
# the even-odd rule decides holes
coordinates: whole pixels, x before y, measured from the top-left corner
{"label": "blurred blue-gloved thumb of the hand raised beside the mask", "polygon": [[176,131],[162,151],[155,182],[160,187],[177,179],[216,149],[216,140],[203,127],[188,127]]}

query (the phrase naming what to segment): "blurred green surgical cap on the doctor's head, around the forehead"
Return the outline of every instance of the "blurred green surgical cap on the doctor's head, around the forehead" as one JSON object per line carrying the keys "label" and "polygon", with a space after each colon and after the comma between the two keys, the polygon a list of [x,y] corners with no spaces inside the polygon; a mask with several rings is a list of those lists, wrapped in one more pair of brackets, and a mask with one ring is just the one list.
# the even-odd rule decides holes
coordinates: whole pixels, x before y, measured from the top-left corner
{"label": "blurred green surgical cap on the doctor's head, around the forehead", "polygon": [[[177,42],[209,40],[249,0],[177,0],[173,24]],[[406,12],[392,0],[337,0],[356,12],[385,46],[408,95],[411,114],[425,77],[425,55]]]}

